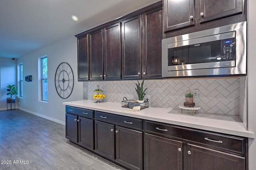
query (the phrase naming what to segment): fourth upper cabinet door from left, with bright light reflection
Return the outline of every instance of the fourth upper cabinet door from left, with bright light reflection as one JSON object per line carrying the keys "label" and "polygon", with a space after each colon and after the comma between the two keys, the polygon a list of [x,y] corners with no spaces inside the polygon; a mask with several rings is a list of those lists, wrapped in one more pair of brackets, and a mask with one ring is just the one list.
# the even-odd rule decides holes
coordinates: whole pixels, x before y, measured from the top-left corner
{"label": "fourth upper cabinet door from left, with bright light reflection", "polygon": [[141,78],[140,15],[122,21],[122,78]]}

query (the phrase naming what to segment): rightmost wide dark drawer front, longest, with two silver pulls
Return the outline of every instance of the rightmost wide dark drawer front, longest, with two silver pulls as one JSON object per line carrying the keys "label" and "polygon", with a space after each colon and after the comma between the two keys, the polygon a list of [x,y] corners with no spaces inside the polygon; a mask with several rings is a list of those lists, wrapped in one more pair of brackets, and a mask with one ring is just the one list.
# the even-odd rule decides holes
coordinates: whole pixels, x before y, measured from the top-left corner
{"label": "rightmost wide dark drawer front, longest, with two silver pulls", "polygon": [[146,121],[146,132],[201,143],[221,150],[245,154],[245,138]]}

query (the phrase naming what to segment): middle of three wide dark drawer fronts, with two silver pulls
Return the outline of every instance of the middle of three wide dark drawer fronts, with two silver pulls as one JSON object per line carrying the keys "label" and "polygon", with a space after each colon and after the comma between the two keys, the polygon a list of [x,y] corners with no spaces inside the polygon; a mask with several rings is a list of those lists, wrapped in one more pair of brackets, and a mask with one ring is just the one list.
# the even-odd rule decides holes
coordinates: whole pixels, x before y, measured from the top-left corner
{"label": "middle of three wide dark drawer fronts, with two silver pulls", "polygon": [[142,119],[95,111],[95,119],[142,130]]}

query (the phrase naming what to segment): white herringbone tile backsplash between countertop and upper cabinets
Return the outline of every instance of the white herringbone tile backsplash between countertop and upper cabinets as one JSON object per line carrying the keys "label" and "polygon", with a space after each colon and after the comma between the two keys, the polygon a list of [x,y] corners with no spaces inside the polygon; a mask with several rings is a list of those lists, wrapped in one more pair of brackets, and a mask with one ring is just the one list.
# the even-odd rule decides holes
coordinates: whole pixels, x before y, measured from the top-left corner
{"label": "white herringbone tile backsplash between countertop and upper cabinets", "polygon": [[[92,99],[97,85],[104,91],[106,102],[121,103],[123,97],[137,100],[135,83],[137,80],[88,82],[88,99]],[[142,80],[139,80],[141,83]],[[194,98],[200,111],[239,115],[239,78],[145,80],[144,88],[149,106],[179,109],[183,105],[186,90],[199,90],[199,98]]]}

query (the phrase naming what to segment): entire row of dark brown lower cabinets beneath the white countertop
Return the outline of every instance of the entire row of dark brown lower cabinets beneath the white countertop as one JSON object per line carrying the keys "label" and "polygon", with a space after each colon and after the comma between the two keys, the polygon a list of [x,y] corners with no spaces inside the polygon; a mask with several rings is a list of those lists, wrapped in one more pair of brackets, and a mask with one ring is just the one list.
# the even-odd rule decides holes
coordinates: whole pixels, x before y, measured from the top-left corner
{"label": "entire row of dark brown lower cabinets beneath the white countertop", "polygon": [[66,138],[129,170],[247,170],[248,139],[66,107]]}

